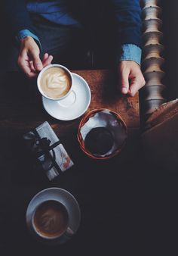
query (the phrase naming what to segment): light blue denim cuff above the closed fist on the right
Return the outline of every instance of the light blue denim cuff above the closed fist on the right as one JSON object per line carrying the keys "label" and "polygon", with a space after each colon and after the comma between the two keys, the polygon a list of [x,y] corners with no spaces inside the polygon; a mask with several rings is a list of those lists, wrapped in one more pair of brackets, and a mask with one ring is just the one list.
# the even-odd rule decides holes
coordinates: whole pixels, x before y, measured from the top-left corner
{"label": "light blue denim cuff above the closed fist on the right", "polygon": [[135,61],[141,64],[142,50],[137,45],[124,44],[121,45],[121,55],[118,61]]}

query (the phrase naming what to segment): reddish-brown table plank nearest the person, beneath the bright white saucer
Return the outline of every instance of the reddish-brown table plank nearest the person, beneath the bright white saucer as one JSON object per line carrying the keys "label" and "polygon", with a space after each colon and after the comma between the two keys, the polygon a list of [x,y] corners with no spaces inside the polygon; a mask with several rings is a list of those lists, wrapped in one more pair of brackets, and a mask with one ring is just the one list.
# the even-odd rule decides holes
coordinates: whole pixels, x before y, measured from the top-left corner
{"label": "reddish-brown table plank nearest the person, beneath the bright white saucer", "polygon": [[[129,129],[140,129],[139,97],[124,97],[116,92],[115,74],[110,70],[73,70],[84,77],[91,88],[91,105],[94,108],[109,108],[121,114]],[[18,78],[18,77],[17,77]],[[18,81],[18,80],[17,80]],[[18,133],[35,128],[45,120],[59,127],[60,134],[71,133],[78,128],[81,117],[72,121],[55,120],[44,111],[35,83],[28,85],[27,80],[15,82],[13,76],[6,78],[0,95],[0,129],[6,133]]]}

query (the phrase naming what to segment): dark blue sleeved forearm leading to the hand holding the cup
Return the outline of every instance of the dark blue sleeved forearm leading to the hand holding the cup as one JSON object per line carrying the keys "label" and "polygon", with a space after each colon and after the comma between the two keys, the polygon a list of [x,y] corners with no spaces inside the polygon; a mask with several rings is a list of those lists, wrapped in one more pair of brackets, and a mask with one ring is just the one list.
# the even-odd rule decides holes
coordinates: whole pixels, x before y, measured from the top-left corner
{"label": "dark blue sleeved forearm leading to the hand holding the cup", "polygon": [[26,10],[26,0],[3,0],[2,11],[14,36],[23,29],[34,32],[29,13]]}

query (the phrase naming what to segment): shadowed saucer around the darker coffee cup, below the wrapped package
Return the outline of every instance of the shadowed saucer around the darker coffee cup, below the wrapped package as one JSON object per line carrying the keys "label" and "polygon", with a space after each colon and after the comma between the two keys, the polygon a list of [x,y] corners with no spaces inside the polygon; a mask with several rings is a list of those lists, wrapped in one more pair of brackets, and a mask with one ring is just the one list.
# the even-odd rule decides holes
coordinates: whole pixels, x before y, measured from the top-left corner
{"label": "shadowed saucer around the darker coffee cup, below the wrapped package", "polygon": [[[67,227],[67,233],[65,233],[63,238],[60,237],[58,239],[44,239],[41,236],[38,236],[34,232],[34,229],[32,229],[32,215],[35,211],[35,208],[42,202],[48,200],[56,200],[66,206],[66,210],[69,215],[69,223]],[[78,202],[76,201],[74,196],[65,189],[54,187],[41,190],[32,198],[26,210],[26,224],[29,228],[29,231],[32,233],[33,236],[35,236],[35,239],[49,244],[63,243],[66,242],[66,240],[69,240],[77,232],[80,221],[81,211]]]}

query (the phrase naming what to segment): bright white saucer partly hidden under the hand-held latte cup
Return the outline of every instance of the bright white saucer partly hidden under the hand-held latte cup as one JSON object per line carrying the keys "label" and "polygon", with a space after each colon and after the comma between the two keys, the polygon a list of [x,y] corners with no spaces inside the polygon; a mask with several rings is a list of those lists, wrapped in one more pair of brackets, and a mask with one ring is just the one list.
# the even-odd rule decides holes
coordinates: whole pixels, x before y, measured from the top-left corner
{"label": "bright white saucer partly hidden under the hand-held latte cup", "polygon": [[52,101],[42,96],[45,111],[58,120],[74,120],[81,117],[91,103],[91,89],[87,82],[76,73],[72,73],[72,78],[72,92],[63,100]]}

